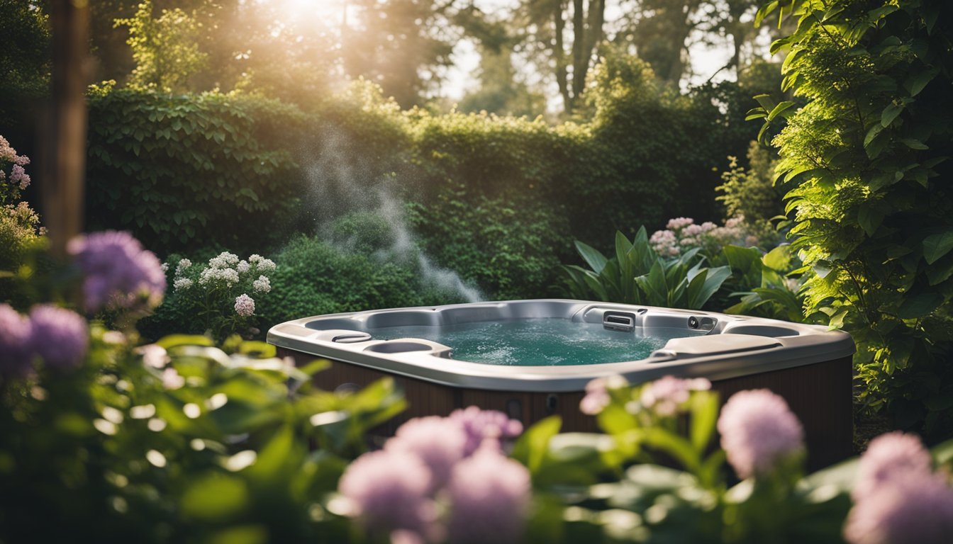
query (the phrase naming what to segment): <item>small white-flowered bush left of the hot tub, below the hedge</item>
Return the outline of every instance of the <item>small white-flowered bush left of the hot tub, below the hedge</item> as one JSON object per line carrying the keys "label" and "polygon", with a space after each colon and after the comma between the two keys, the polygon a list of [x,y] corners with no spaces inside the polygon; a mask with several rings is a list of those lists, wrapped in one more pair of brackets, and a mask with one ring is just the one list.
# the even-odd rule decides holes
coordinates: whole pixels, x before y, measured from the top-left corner
{"label": "small white-flowered bush left of the hot tub, below the hedge", "polygon": [[230,252],[219,253],[206,265],[193,264],[188,258],[172,260],[169,304],[178,312],[193,314],[191,322],[201,329],[191,332],[209,332],[217,339],[235,332],[256,333],[255,298],[260,300],[272,291],[268,274],[277,268],[274,261],[258,254],[244,260]]}

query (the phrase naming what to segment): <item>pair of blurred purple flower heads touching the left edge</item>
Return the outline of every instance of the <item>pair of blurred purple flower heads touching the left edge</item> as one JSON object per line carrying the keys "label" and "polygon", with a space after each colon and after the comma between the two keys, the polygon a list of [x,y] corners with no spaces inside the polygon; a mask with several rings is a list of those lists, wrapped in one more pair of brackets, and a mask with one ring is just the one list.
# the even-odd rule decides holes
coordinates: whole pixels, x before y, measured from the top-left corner
{"label": "pair of blurred purple flower heads touching the left edge", "polygon": [[89,349],[86,320],[76,312],[51,305],[34,306],[30,316],[0,304],[0,373],[30,373],[34,358],[48,369],[78,367]]}

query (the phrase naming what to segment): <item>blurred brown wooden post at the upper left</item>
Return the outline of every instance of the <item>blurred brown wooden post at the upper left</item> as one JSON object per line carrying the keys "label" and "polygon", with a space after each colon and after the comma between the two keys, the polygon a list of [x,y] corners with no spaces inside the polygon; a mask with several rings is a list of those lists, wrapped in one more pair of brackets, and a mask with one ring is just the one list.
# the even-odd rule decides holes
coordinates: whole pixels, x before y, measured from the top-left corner
{"label": "blurred brown wooden post at the upper left", "polygon": [[51,0],[50,7],[52,93],[38,173],[51,251],[62,258],[83,228],[90,8],[89,0]]}

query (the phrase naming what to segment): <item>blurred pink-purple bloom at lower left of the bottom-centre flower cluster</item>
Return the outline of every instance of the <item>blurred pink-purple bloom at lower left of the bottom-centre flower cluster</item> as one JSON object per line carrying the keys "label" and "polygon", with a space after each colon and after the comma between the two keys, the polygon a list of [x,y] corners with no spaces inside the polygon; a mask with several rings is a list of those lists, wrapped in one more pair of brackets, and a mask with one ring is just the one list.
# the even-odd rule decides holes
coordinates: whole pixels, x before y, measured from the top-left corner
{"label": "blurred pink-purple bloom at lower left of the bottom-centre flower cluster", "polygon": [[357,457],[341,476],[338,491],[371,533],[429,534],[436,516],[427,496],[430,483],[430,470],[415,454],[381,450]]}

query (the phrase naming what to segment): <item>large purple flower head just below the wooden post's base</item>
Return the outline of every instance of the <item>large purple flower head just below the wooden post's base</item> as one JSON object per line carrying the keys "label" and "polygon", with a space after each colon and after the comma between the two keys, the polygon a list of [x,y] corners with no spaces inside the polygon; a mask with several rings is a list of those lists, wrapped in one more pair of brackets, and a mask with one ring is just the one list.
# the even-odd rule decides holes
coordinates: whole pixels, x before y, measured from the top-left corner
{"label": "large purple flower head just below the wooden post's base", "polygon": [[80,235],[67,249],[86,274],[83,292],[89,311],[107,305],[131,308],[143,296],[155,306],[166,291],[166,274],[159,259],[144,250],[129,232]]}

